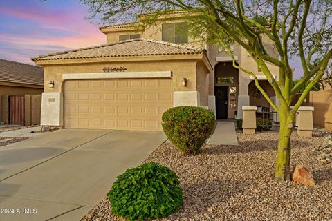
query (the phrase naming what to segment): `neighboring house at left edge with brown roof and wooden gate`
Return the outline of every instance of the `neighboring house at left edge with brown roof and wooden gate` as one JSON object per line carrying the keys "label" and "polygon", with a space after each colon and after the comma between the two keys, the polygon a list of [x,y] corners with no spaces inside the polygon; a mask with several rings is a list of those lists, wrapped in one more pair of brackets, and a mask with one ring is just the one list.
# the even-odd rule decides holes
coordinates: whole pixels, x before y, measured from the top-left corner
{"label": "neighboring house at left edge with brown roof and wooden gate", "polygon": [[[28,109],[25,95],[41,95],[43,92],[44,70],[42,67],[0,59],[0,122],[26,124]],[[27,117],[30,121],[31,117]]]}

